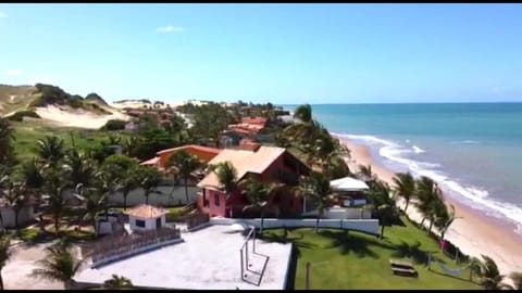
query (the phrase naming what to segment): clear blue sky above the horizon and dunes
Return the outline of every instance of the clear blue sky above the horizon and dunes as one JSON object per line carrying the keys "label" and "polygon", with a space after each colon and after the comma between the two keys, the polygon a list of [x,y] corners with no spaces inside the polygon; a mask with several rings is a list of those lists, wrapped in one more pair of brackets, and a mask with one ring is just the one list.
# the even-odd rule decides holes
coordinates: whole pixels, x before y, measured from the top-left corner
{"label": "clear blue sky above the horizon and dunes", "polygon": [[0,84],[110,101],[522,101],[521,4],[0,4]]}

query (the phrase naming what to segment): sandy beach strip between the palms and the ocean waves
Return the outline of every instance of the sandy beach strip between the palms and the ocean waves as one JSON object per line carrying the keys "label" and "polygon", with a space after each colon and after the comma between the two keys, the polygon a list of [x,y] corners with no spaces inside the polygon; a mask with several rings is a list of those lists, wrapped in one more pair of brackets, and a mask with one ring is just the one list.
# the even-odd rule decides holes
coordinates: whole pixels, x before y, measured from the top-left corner
{"label": "sandy beach strip between the palms and the ocean waves", "polygon": [[[333,137],[350,150],[351,158],[346,160],[350,170],[357,170],[359,164],[371,165],[372,171],[381,180],[387,182],[390,187],[393,186],[391,178],[395,171],[376,162],[371,156],[368,145],[338,136]],[[481,258],[481,254],[484,254],[492,257],[501,275],[507,276],[512,271],[522,271],[522,255],[520,254],[522,243],[520,235],[512,230],[514,226],[507,227],[506,222],[500,219],[485,215],[447,194],[444,194],[444,200],[447,204],[455,206],[457,216],[448,228],[445,239],[467,255]],[[403,200],[398,200],[397,205],[403,209]],[[412,202],[408,206],[407,214],[415,222],[422,220],[422,216],[417,212]],[[427,227],[428,224],[430,221],[425,220],[424,226]],[[505,282],[510,282],[510,280],[506,278]]]}

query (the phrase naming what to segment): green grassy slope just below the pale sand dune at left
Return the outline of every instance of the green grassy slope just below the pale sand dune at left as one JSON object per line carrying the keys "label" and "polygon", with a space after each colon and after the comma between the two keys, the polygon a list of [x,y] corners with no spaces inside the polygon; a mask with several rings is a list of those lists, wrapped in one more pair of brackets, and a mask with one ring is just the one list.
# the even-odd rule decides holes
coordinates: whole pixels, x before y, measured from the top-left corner
{"label": "green grassy slope just below the pale sand dune at left", "polygon": [[[80,129],[73,127],[52,127],[35,122],[16,122],[12,123],[15,130],[15,149],[16,157],[21,161],[28,160],[35,154],[36,141],[46,136],[59,136],[64,140],[66,146],[72,145],[72,140],[79,149],[99,145],[102,140],[107,140],[110,133],[114,131],[100,131],[91,129]],[[117,132],[119,136],[128,136],[125,132]]]}

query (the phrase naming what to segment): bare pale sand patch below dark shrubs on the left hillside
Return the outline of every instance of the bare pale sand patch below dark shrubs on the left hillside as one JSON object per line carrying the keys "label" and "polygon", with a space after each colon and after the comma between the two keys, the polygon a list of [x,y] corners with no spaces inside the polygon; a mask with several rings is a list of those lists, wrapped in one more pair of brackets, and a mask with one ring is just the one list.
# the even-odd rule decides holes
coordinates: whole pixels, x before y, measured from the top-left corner
{"label": "bare pale sand patch below dark shrubs on the left hillside", "polygon": [[120,113],[110,107],[103,107],[111,112],[111,115],[99,115],[85,110],[75,110],[66,106],[48,105],[45,107],[37,107],[36,113],[46,120],[52,122],[59,126],[64,127],[79,127],[98,129],[107,124],[110,119],[128,120],[129,116]]}

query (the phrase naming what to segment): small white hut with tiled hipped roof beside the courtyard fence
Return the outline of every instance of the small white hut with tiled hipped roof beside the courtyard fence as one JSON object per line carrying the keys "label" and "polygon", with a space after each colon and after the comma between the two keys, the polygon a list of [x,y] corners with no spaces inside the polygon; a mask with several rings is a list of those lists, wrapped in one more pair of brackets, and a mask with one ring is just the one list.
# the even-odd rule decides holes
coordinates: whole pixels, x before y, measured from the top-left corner
{"label": "small white hut with tiled hipped roof beside the courtyard fence", "polygon": [[141,204],[124,212],[128,215],[130,230],[156,230],[165,226],[166,209],[148,204]]}

